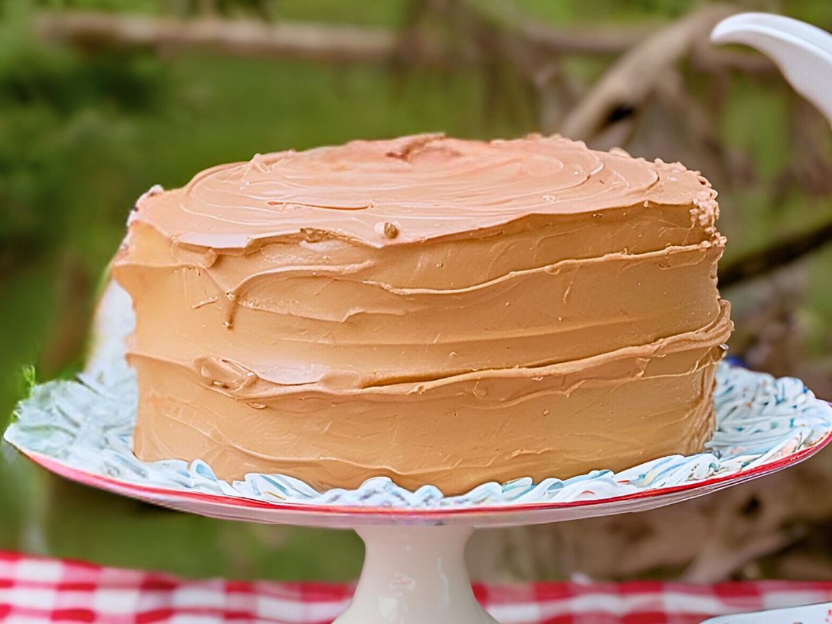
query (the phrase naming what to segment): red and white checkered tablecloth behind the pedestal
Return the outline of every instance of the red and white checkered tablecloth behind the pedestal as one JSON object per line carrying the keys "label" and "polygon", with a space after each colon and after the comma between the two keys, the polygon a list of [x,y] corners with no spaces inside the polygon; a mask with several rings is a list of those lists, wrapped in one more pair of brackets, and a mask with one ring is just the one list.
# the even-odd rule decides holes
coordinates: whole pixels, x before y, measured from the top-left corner
{"label": "red and white checkered tablecloth behind the pedestal", "polygon": [[[0,621],[280,622],[324,624],[346,607],[351,586],[186,581],[167,574],[0,552]],[[503,624],[688,624],[731,612],[832,601],[832,582],[668,582],[478,585]]]}

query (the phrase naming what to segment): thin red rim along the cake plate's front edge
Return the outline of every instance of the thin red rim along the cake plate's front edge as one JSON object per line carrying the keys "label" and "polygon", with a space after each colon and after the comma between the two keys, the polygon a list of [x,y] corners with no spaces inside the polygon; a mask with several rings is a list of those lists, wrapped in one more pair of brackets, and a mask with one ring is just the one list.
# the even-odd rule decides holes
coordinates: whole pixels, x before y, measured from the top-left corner
{"label": "thin red rim along the cake plate's front edge", "polygon": [[640,498],[652,498],[665,494],[684,492],[686,490],[696,488],[708,488],[711,486],[730,483],[731,481],[745,481],[750,478],[760,477],[766,473],[774,473],[782,468],[787,468],[792,464],[800,463],[804,459],[810,458],[815,453],[818,453],[822,448],[825,448],[825,446],[830,442],[832,442],[832,430],[826,433],[824,438],[821,438],[809,448],[803,448],[796,453],[790,453],[784,458],[777,459],[773,462],[763,463],[747,470],[740,469],[735,473],[712,477],[702,481],[682,483],[681,485],[674,485],[667,488],[655,488],[651,490],[643,490],[641,492],[622,494],[622,496],[592,498],[587,500],[571,501],[568,503],[505,503],[497,505],[477,505],[463,508],[389,508],[364,507],[356,505],[321,505],[316,503],[265,503],[264,501],[253,500],[250,498],[237,498],[222,494],[189,492],[173,488],[154,488],[137,485],[136,483],[119,481],[118,479],[105,477],[96,473],[87,473],[86,471],[72,468],[66,464],[60,463],[55,459],[48,458],[46,455],[42,455],[40,453],[27,453],[23,451],[23,454],[30,458],[34,463],[42,466],[42,468],[46,468],[50,472],[63,478],[70,479],[71,481],[82,483],[83,485],[87,485],[92,488],[101,488],[110,492],[125,494],[136,498],[150,499],[153,501],[158,501],[159,497],[164,496],[169,498],[199,501],[201,503],[221,503],[232,507],[257,508],[285,512],[305,512],[332,515],[349,514],[362,516],[383,515],[385,517],[413,518],[414,516],[458,517],[468,514],[476,515],[478,513],[516,513],[532,510],[542,511],[545,509],[577,508],[607,503],[622,503],[624,501],[631,501]]}

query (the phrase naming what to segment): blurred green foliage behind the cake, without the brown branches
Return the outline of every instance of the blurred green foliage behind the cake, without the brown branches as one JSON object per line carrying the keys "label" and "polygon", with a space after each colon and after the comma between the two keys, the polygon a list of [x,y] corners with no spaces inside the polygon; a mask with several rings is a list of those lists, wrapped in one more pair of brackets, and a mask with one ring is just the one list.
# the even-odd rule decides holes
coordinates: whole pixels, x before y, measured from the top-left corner
{"label": "blurred green foliage behind the cake, without the brown branches", "polygon": [[[483,0],[488,1],[488,0]],[[153,184],[181,186],[201,169],[257,152],[302,149],[355,137],[447,131],[470,137],[535,131],[520,102],[492,106],[486,77],[372,64],[242,60],[211,55],[85,52],[32,35],[38,8],[161,13],[200,2],[52,0],[0,4],[0,428],[38,377],[72,370],[95,285],[124,232],[132,202]],[[659,22],[696,2],[681,0],[518,0],[542,21]],[[765,8],[765,2],[745,5]],[[780,4],[769,2],[770,8]],[[798,17],[832,23],[825,0],[782,2]],[[407,2],[275,0],[217,2],[226,17],[308,19],[395,27]],[[594,63],[594,64],[593,64]],[[582,71],[600,72],[598,62]],[[732,83],[721,135],[775,176],[786,149],[788,111],[779,92],[753,79]],[[826,197],[775,202],[754,188],[730,196],[729,254],[800,231],[832,211]],[[723,202],[725,206],[725,201]],[[750,215],[754,215],[753,218]],[[723,228],[725,230],[725,228]],[[830,250],[813,260],[828,280]],[[832,293],[815,289],[804,314],[830,352]],[[69,338],[67,339],[67,336]],[[827,341],[827,342],[824,342]],[[94,513],[91,513],[94,512]],[[47,476],[3,445],[0,548],[97,562],[156,567],[186,575],[353,577],[361,546],[343,532],[270,531],[149,508]]]}

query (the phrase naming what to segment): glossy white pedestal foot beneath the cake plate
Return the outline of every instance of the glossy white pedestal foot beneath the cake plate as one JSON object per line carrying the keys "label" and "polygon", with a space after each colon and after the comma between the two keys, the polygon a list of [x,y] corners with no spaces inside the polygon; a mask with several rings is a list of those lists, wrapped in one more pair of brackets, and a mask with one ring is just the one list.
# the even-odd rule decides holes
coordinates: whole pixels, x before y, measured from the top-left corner
{"label": "glossy white pedestal foot beneath the cake plate", "polygon": [[473,527],[356,529],[364,567],[353,601],[334,624],[497,624],[473,596],[465,544]]}

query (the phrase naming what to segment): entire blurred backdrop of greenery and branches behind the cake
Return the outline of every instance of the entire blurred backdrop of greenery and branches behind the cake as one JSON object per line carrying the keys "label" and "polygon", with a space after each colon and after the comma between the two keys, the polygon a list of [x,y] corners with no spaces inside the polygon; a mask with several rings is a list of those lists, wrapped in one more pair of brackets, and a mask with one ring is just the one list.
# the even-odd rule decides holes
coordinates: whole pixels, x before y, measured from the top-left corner
{"label": "entire blurred backdrop of greenery and branches behind the cake", "polygon": [[[720,191],[730,354],[832,399],[832,132],[707,33],[828,0],[2,0],[0,429],[71,376],[133,201],[257,152],[422,131],[561,132]],[[31,371],[31,369],[28,369]],[[685,538],[679,539],[681,527]],[[651,513],[478,532],[474,577],[832,578],[832,451]],[[191,577],[344,580],[351,532],[247,526],[52,478],[0,448],[0,548]]]}

